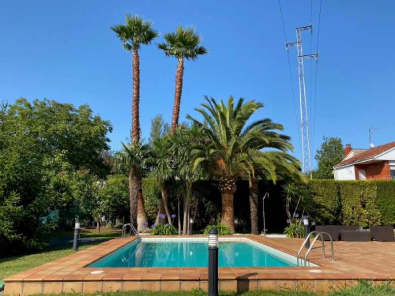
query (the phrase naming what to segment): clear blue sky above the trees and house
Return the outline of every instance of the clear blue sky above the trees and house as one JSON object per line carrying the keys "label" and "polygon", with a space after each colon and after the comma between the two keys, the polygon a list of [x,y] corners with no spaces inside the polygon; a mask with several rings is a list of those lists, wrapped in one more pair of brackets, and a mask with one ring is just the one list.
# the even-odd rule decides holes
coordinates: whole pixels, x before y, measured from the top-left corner
{"label": "clear blue sky above the trees and house", "polygon": [[[306,54],[316,51],[319,3],[313,0],[313,36],[303,35]],[[295,28],[310,22],[311,0],[281,0],[281,6],[293,42]],[[196,114],[203,95],[256,99],[265,108],[255,118],[282,123],[300,158],[296,50],[289,52],[294,105],[276,0],[1,0],[0,100],[89,104],[112,122],[111,147],[119,148],[130,130],[131,55],[110,26],[124,22],[125,12],[153,20],[162,35],[193,25],[209,49],[185,64],[180,118]],[[313,155],[323,135],[367,148],[369,127],[377,129],[375,145],[395,141],[394,12],[393,0],[322,0],[316,90],[316,64],[305,61]],[[140,58],[147,137],[156,114],[170,121],[176,60],[155,44],[144,46]]]}

